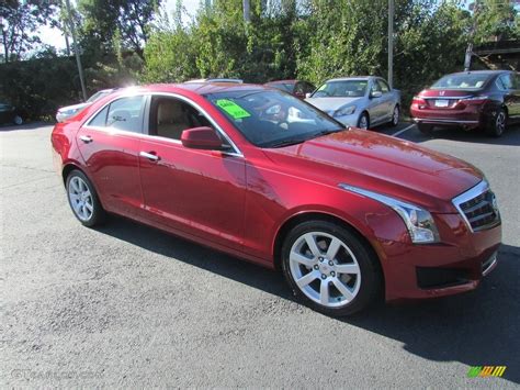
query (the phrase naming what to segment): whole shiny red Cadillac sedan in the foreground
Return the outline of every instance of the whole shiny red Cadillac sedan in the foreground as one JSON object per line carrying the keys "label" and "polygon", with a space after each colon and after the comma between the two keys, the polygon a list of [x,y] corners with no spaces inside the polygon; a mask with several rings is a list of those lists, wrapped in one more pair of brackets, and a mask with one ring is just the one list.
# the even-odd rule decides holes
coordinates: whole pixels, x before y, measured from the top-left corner
{"label": "whole shiny red Cadillac sedan in the foreground", "polygon": [[500,215],[460,159],[339,122],[252,85],[118,90],[58,123],[52,144],[86,226],[121,214],[281,269],[330,315],[475,289]]}

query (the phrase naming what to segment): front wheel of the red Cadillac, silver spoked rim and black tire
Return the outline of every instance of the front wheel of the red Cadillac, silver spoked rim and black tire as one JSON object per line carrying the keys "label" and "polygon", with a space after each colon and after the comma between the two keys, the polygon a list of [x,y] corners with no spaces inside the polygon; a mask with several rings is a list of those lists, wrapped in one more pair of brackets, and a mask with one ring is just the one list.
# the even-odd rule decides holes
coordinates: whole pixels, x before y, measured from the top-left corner
{"label": "front wheel of the red Cadillac, silver spoked rim and black tire", "polygon": [[282,267],[295,294],[310,308],[342,316],[364,309],[381,285],[377,259],[350,231],[309,221],[291,231]]}

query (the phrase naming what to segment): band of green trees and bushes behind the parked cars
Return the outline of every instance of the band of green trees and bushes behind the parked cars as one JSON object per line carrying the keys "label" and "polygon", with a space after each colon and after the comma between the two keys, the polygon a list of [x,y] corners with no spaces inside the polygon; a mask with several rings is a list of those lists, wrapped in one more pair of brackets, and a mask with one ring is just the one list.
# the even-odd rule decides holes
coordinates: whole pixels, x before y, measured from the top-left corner
{"label": "band of green trees and bushes behind the parked cars", "polygon": [[[18,26],[10,33],[7,59],[20,58],[37,42],[31,32],[53,14],[54,1],[0,4],[4,46],[5,26]],[[202,77],[320,83],[337,76],[387,75],[387,0],[249,2],[245,22],[242,0],[213,0],[210,8],[202,0],[195,15],[186,14],[181,0],[171,15],[160,8],[162,0],[78,0],[74,20],[88,89]],[[468,42],[520,37],[519,18],[509,1],[476,2],[471,12],[463,0],[395,0],[394,86],[403,92],[404,108],[443,74],[462,69]],[[64,16],[61,10],[53,23],[65,31]],[[5,99],[29,107],[34,115],[79,100],[78,92],[70,92],[79,91],[71,58],[56,58],[52,47],[43,47],[35,58],[42,60],[4,68],[2,78],[15,78],[1,81]],[[53,80],[59,88],[41,80]],[[60,96],[59,90],[66,92]]]}

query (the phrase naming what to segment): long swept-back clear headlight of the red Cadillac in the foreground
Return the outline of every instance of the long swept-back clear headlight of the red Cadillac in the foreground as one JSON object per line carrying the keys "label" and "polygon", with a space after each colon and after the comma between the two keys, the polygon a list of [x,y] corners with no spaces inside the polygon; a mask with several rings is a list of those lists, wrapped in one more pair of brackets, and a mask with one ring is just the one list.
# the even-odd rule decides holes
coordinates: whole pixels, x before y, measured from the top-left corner
{"label": "long swept-back clear headlight of the red Cadillac in the foreground", "polygon": [[436,222],[429,211],[421,209],[418,205],[403,202],[362,188],[344,183],[340,183],[339,187],[363,197],[374,199],[394,209],[394,211],[403,219],[403,222],[405,222],[414,244],[432,244],[439,242],[439,231],[437,230]]}

